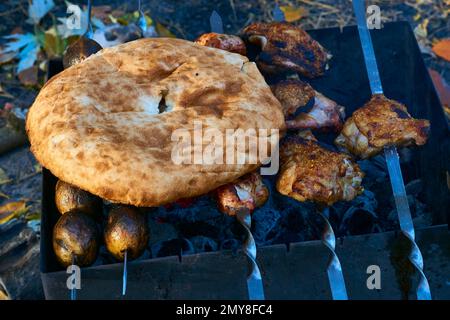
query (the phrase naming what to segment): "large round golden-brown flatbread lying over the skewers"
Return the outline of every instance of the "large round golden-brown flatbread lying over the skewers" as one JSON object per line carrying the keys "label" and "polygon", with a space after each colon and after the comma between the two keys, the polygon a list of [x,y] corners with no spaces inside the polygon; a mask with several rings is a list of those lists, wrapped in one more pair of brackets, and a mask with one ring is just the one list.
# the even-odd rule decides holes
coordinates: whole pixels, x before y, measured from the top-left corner
{"label": "large round golden-brown flatbread lying over the skewers", "polygon": [[[158,206],[260,166],[198,158],[180,164],[174,154],[194,154],[198,141],[189,146],[174,133],[187,132],[193,141],[212,128],[224,136],[242,129],[269,140],[284,130],[284,117],[246,57],[157,38],[103,49],[51,78],[26,127],[32,152],[59,179],[112,202]],[[220,145],[204,140],[201,148]],[[234,150],[249,157],[248,146]]]}

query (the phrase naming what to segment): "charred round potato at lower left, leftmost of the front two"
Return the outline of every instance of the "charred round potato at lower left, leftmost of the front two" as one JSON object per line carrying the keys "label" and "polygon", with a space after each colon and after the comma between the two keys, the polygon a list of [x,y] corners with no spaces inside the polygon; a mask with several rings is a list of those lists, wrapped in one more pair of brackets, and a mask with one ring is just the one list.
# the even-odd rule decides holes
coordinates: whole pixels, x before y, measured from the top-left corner
{"label": "charred round potato at lower left, leftmost of the front two", "polygon": [[58,262],[67,267],[74,262],[80,267],[93,264],[98,255],[100,232],[85,213],[73,210],[62,215],[53,228],[53,250]]}

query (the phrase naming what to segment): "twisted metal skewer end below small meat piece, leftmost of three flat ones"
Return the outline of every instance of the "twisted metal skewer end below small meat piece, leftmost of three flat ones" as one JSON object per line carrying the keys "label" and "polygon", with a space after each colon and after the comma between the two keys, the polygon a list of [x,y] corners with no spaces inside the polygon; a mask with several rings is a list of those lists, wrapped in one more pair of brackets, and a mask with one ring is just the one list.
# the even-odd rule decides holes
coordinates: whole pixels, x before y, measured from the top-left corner
{"label": "twisted metal skewer end below small meat piece, leftmost of three flat ones", "polygon": [[250,262],[250,272],[247,276],[247,290],[249,300],[264,300],[264,287],[262,283],[261,271],[256,262],[256,243],[250,231],[252,218],[250,210],[241,208],[236,213],[236,218],[244,227],[246,237],[242,245],[242,250]]}

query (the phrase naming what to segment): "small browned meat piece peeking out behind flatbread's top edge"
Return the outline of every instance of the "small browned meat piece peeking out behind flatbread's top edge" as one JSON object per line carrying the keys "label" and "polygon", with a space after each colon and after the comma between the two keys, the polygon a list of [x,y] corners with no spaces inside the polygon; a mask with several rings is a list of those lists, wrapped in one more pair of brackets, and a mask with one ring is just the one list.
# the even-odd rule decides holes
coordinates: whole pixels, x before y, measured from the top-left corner
{"label": "small browned meat piece peeking out behind flatbread's top edge", "polygon": [[198,37],[197,40],[195,40],[195,43],[206,47],[239,53],[243,56],[247,54],[247,49],[245,47],[244,41],[238,36],[230,34],[221,34],[214,32],[205,33]]}

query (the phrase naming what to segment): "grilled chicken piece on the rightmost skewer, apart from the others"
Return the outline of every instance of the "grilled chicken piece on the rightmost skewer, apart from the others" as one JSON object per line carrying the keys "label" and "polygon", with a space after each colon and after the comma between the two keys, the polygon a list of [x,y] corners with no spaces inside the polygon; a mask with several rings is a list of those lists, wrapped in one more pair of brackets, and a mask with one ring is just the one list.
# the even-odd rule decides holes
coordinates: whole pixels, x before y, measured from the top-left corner
{"label": "grilled chicken piece on the rightmost skewer, apart from the others", "polygon": [[403,104],[377,94],[347,119],[335,143],[365,159],[387,145],[423,145],[429,127],[428,120],[412,118]]}

